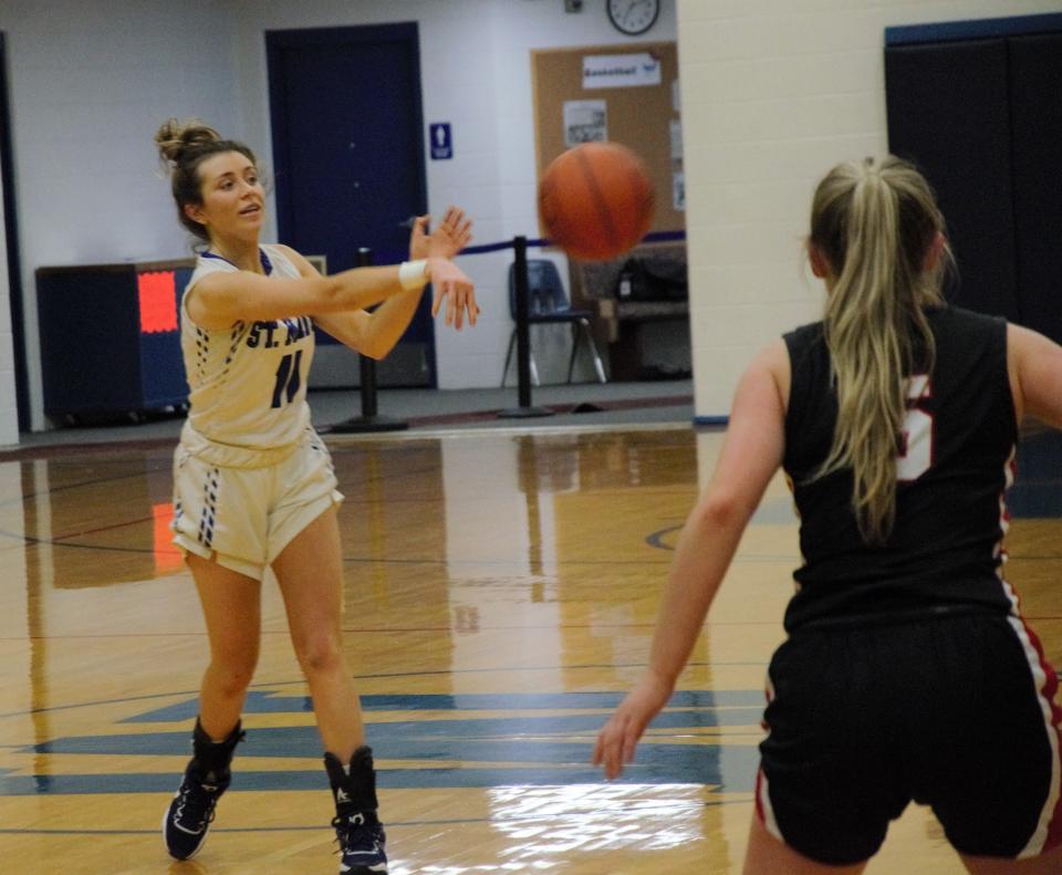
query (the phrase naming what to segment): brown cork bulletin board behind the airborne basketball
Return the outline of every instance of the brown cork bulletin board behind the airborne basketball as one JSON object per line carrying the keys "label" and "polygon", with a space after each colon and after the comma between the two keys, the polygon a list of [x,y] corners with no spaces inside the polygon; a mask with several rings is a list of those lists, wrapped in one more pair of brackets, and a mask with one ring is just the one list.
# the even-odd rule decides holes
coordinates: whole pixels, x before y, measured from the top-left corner
{"label": "brown cork bulletin board behind the airborne basketball", "polygon": [[[594,81],[584,76],[587,58],[645,53],[659,61],[658,84],[632,81],[618,87],[586,86]],[[604,139],[634,149],[645,162],[656,192],[652,230],[686,228],[678,52],[674,42],[532,50],[531,80],[538,178],[550,162],[581,137],[597,139],[603,133]]]}

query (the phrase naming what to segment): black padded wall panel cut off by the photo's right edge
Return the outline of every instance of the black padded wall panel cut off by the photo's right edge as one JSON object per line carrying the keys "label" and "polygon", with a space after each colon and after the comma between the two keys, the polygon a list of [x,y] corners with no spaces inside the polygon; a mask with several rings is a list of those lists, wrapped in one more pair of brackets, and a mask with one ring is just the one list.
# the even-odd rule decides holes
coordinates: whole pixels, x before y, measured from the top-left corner
{"label": "black padded wall panel cut off by the photo's right edge", "polygon": [[1019,306],[1062,342],[1062,33],[1007,43]]}

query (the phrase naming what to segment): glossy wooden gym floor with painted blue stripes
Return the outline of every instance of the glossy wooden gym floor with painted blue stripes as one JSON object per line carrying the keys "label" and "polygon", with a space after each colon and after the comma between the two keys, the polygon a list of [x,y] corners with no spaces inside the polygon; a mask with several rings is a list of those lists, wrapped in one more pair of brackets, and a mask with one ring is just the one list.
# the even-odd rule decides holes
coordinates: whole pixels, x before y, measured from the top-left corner
{"label": "glossy wooden gym floor with painted blue stripes", "polygon": [[[718,431],[654,425],[333,438],[345,645],[395,875],[740,871],[763,675],[796,528],[774,482],[670,707],[624,780],[587,759],[645,663]],[[1012,491],[1008,576],[1062,664],[1052,435]],[[1054,460],[1053,462],[1051,460]],[[168,543],[170,447],[0,461],[0,871],[332,873],[331,800],[273,582],[247,742],[210,840],[173,863],[207,643]],[[908,809],[868,872],[959,873]]]}

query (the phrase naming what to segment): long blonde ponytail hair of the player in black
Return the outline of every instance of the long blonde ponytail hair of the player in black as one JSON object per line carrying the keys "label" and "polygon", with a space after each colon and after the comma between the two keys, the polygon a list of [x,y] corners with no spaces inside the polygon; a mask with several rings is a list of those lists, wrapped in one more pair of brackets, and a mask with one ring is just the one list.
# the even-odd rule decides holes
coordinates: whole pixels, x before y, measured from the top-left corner
{"label": "long blonde ponytail hair of the player in black", "polygon": [[908,378],[936,360],[924,309],[944,302],[930,263],[943,219],[922,175],[889,156],[834,167],[811,225],[810,244],[829,265],[824,331],[837,395],[833,445],[814,477],[852,470],[860,532],[879,544],[896,517]]}

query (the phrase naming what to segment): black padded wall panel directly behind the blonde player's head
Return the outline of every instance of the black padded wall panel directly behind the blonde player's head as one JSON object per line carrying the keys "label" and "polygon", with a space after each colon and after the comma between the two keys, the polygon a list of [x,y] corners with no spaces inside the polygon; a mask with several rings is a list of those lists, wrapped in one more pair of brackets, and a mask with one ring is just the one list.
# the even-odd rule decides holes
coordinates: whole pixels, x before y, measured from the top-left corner
{"label": "black padded wall panel directly behind the blonde player's head", "polygon": [[949,298],[1021,322],[1007,41],[887,46],[885,85],[889,150],[925,173],[948,223],[959,268]]}

